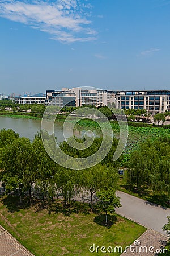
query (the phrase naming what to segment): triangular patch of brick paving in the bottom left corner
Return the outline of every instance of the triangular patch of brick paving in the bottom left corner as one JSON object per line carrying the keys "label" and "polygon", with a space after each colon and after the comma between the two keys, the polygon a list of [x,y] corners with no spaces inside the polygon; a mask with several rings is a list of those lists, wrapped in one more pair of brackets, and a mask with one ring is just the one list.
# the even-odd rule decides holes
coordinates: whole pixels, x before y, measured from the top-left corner
{"label": "triangular patch of brick paving in the bottom left corner", "polygon": [[0,256],[33,256],[0,225]]}

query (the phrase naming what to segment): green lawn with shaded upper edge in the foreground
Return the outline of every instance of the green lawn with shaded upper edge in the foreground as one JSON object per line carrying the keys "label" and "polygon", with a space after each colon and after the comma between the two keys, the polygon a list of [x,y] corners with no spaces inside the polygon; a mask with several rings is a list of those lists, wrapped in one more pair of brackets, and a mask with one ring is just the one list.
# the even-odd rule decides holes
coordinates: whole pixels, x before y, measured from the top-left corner
{"label": "green lawn with shaded upper edge in the foreground", "polygon": [[109,215],[110,225],[106,227],[103,214],[91,213],[88,204],[74,203],[71,214],[63,214],[63,208],[57,208],[57,205],[53,203],[49,208],[44,202],[42,207],[39,201],[31,207],[27,204],[20,207],[16,197],[1,197],[0,224],[39,256],[91,255],[89,247],[94,243],[96,246],[125,248],[146,230],[116,214]]}

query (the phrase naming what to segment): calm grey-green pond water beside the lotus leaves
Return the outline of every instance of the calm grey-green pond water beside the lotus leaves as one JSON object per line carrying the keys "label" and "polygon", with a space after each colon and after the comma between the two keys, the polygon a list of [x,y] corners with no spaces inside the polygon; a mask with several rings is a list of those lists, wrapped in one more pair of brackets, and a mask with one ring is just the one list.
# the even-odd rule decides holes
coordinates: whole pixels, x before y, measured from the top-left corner
{"label": "calm grey-green pond water beside the lotus leaves", "polygon": [[[63,122],[56,122],[54,126],[54,133],[57,137],[58,142],[63,142],[65,139],[63,137],[63,130],[62,130]],[[40,131],[41,129],[41,120],[34,120],[34,119],[15,119],[10,117],[3,117],[0,116],[0,130],[1,129],[12,129],[16,133],[20,135],[20,137],[27,137],[33,140],[35,134]],[[82,137],[86,130],[76,130],[74,135],[76,137]],[[87,132],[90,136],[91,134]],[[95,134],[95,133],[94,133]],[[97,135],[95,134],[95,137]],[[66,138],[71,137],[71,130],[66,130]]]}

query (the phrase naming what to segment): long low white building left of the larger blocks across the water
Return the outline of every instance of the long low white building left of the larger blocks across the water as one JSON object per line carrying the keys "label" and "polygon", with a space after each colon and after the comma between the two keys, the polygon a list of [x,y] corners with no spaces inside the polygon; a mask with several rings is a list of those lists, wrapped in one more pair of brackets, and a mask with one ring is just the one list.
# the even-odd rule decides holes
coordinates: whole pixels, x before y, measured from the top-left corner
{"label": "long low white building left of the larger blocks across the water", "polygon": [[35,95],[29,96],[25,94],[23,97],[14,97],[15,104],[45,104],[45,94],[37,93]]}

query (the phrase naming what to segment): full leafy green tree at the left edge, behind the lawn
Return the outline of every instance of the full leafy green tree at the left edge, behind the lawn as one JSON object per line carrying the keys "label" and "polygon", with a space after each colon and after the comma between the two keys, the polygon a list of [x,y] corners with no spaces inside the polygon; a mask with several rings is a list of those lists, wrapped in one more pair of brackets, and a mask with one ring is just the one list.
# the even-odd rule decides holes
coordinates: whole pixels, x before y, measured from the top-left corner
{"label": "full leafy green tree at the left edge, behind the lawn", "polygon": [[20,191],[21,196],[27,189],[25,172],[31,166],[31,143],[27,138],[18,138],[12,143],[7,144],[1,151],[2,180],[6,187],[15,191]]}

